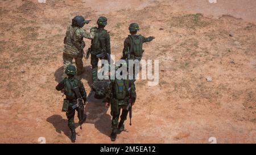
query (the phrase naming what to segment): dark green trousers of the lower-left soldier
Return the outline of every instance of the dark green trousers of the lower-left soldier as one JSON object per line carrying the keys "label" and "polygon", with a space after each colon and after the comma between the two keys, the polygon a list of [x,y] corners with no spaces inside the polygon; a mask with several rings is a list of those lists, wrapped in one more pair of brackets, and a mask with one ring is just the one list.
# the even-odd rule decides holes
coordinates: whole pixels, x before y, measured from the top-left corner
{"label": "dark green trousers of the lower-left soldier", "polygon": [[[68,118],[68,127],[72,130],[75,129],[75,122],[74,122],[74,118],[75,118],[75,110],[78,112],[79,108],[75,108],[73,109],[72,106],[76,104],[76,102],[74,103],[69,103],[69,107],[68,107],[68,112],[66,112],[67,118]],[[82,118],[84,118],[84,105],[82,105],[82,114],[78,114],[77,117],[79,117],[79,115],[82,115]],[[79,121],[81,121],[79,119]]]}

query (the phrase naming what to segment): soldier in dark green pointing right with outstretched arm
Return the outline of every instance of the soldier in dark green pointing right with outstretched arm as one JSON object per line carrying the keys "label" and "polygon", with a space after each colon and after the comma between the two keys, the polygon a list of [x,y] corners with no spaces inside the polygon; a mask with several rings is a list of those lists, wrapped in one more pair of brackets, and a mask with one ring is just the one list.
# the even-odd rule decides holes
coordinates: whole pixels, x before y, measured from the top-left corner
{"label": "soldier in dark green pointing right with outstretched arm", "polygon": [[130,59],[141,61],[144,49],[142,49],[143,43],[152,41],[155,39],[154,36],[144,37],[142,35],[137,35],[139,31],[139,25],[137,23],[131,23],[129,26],[129,31],[131,35],[128,35],[125,39],[123,46],[123,58],[128,58],[128,48],[130,51]]}

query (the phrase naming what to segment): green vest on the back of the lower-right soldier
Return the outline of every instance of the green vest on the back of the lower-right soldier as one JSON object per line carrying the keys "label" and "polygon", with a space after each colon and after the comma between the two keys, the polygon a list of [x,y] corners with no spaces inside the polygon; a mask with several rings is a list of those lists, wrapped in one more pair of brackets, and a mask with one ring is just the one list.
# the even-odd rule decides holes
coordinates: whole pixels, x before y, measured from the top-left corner
{"label": "green vest on the back of the lower-right soldier", "polygon": [[114,80],[114,98],[119,100],[125,100],[129,98],[129,87],[131,82],[125,79],[115,79]]}

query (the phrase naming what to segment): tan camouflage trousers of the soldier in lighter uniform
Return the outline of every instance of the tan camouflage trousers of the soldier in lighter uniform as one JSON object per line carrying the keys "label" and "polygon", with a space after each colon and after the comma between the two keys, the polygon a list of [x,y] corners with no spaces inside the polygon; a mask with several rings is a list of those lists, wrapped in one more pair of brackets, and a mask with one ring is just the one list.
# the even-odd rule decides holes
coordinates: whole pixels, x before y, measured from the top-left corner
{"label": "tan camouflage trousers of the soldier in lighter uniform", "polygon": [[73,58],[75,58],[76,62],[76,69],[77,69],[77,74],[82,73],[82,57],[81,56],[75,56],[75,55],[68,55],[67,53],[63,53],[63,67],[64,67],[64,74],[65,70],[68,67],[68,65],[72,64]]}

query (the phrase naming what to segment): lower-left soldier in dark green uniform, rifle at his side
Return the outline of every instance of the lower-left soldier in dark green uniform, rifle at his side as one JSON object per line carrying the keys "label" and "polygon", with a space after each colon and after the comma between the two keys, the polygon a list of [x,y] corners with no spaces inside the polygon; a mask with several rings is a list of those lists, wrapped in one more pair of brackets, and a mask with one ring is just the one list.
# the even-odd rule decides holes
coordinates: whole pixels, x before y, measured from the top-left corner
{"label": "lower-left soldier in dark green uniform, rifle at his side", "polygon": [[[84,114],[84,104],[86,102],[86,91],[82,82],[75,78],[76,67],[69,65],[65,70],[65,74],[68,75],[68,78],[64,78],[57,86],[56,90],[64,91],[66,98],[64,99],[62,111],[66,112],[68,118],[68,127],[71,129],[71,140],[74,142],[76,140],[76,131],[75,131],[75,110],[79,118],[79,124],[86,120],[86,114]],[[82,103],[84,100],[84,104]],[[81,128],[81,127],[80,127]]]}

